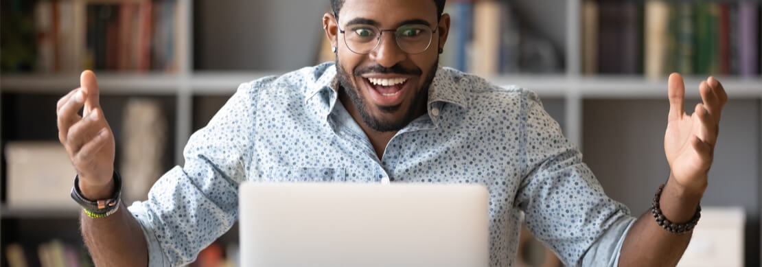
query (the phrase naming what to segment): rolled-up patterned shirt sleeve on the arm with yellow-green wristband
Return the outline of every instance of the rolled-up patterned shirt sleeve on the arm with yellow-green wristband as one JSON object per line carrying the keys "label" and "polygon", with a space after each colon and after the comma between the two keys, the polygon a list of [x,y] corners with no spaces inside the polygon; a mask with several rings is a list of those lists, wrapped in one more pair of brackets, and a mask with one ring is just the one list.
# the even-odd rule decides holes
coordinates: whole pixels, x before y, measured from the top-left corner
{"label": "rolled-up patterned shirt sleeve on the arm with yellow-green wristband", "polygon": [[188,140],[184,166],[162,175],[148,200],[129,207],[145,234],[150,266],[194,262],[238,220],[239,183],[253,164],[253,87],[241,85],[207,127]]}

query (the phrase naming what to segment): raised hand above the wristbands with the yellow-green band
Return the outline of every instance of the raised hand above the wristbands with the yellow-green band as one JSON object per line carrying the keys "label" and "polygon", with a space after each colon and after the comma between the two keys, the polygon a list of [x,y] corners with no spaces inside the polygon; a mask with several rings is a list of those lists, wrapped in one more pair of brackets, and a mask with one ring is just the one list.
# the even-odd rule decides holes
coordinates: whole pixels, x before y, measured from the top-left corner
{"label": "raised hand above the wristbands with the yellow-green band", "polygon": [[58,138],[77,170],[82,195],[109,198],[114,187],[114,134],[101,109],[95,74],[86,70],[79,81],[80,88],[58,101]]}

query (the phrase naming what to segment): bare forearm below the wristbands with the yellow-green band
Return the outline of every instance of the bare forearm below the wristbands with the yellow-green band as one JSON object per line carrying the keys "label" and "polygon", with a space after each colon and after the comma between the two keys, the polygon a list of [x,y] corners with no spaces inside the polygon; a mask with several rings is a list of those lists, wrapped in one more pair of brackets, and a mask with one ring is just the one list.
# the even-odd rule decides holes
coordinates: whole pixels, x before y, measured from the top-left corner
{"label": "bare forearm below the wristbands with the yellow-green band", "polygon": [[148,246],[135,217],[120,204],[108,217],[92,219],[83,211],[82,238],[96,266],[147,266]]}

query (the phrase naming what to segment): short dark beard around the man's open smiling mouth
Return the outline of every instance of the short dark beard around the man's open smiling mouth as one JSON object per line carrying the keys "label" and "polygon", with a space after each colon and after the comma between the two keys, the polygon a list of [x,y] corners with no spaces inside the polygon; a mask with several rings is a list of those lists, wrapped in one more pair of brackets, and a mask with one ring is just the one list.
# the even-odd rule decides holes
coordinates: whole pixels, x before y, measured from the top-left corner
{"label": "short dark beard around the man's open smiling mouth", "polygon": [[[431,67],[431,69],[426,72],[426,76],[424,76],[424,83],[421,85],[420,88],[417,88],[415,95],[413,96],[412,101],[408,105],[407,111],[405,111],[405,114],[402,115],[402,118],[400,119],[386,119],[383,117],[376,117],[370,114],[370,111],[368,111],[367,103],[363,100],[363,98],[360,96],[360,89],[355,87],[350,79],[349,74],[344,71],[344,67],[341,66],[341,63],[339,63],[338,58],[336,59],[336,73],[337,78],[339,82],[339,94],[346,93],[347,96],[349,96],[349,99],[352,101],[352,104],[357,108],[357,111],[360,111],[360,117],[363,119],[363,123],[370,127],[373,130],[376,130],[378,132],[393,132],[401,130],[403,127],[410,124],[411,121],[415,119],[415,115],[417,111],[420,111],[424,108],[426,105],[426,101],[428,99],[428,90],[431,86],[431,82],[434,81],[434,75],[437,73],[437,66],[439,66],[439,56],[437,56],[437,61],[434,62],[434,66]],[[374,65],[369,67],[362,67],[354,69],[354,76],[360,76],[365,73],[396,73],[396,74],[402,74],[402,75],[418,75],[420,76],[422,71],[421,69],[406,69],[405,67],[400,66],[399,64],[386,68],[384,66],[380,65]],[[402,105],[405,105],[405,101],[402,101],[399,105],[393,105],[393,106],[382,106],[382,105],[376,105],[376,108],[379,109],[379,111],[383,113],[392,114],[396,111],[399,111],[399,109],[402,108]]]}

